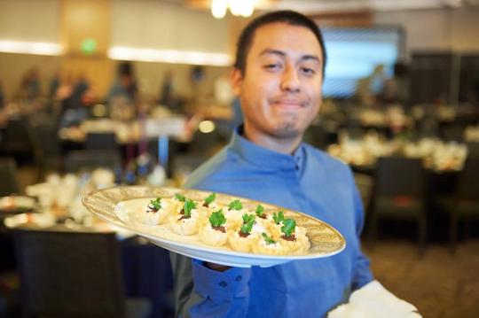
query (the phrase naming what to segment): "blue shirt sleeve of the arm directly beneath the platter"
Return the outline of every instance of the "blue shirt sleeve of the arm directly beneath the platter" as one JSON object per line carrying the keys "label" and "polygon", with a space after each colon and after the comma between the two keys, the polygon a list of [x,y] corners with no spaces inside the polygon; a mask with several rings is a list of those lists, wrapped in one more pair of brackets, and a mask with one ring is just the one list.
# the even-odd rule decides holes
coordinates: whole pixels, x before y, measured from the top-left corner
{"label": "blue shirt sleeve of the arm directly beneath the platter", "polygon": [[170,252],[177,317],[246,317],[251,268],[224,272]]}

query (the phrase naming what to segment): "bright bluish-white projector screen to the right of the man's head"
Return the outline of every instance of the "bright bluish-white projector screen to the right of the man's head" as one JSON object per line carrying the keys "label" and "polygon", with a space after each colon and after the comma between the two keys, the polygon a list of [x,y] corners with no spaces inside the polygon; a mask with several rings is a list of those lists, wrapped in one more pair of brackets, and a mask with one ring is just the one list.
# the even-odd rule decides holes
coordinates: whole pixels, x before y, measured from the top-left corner
{"label": "bright bluish-white projector screen to the right of the man's head", "polygon": [[[323,86],[325,97],[347,98],[356,91],[357,81],[383,65],[387,77],[403,56],[404,33],[400,27],[322,27],[327,64]],[[381,89],[381,84],[374,90]]]}

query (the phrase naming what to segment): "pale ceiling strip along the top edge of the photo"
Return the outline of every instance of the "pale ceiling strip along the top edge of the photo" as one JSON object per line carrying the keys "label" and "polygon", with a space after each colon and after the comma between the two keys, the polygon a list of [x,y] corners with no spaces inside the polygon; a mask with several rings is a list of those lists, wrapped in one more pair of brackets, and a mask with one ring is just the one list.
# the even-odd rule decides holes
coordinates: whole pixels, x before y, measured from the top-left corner
{"label": "pale ceiling strip along the top edge of the photo", "polygon": [[[211,0],[164,0],[209,9]],[[479,0],[255,0],[257,10],[289,9],[303,13],[402,11],[460,8],[479,5]]]}

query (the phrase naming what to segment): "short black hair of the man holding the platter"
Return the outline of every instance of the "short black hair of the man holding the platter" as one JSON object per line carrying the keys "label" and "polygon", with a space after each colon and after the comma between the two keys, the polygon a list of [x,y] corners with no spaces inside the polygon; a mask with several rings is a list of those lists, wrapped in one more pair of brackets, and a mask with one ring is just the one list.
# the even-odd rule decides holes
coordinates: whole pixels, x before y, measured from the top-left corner
{"label": "short black hair of the man holding the platter", "polygon": [[239,69],[241,74],[245,74],[247,53],[249,52],[249,49],[251,49],[256,29],[278,22],[286,23],[291,26],[306,27],[316,36],[319,46],[321,47],[324,77],[326,68],[326,48],[321,30],[312,19],[299,12],[290,10],[265,13],[251,21],[247,27],[243,29],[236,45],[236,60],[234,62],[234,67]]}

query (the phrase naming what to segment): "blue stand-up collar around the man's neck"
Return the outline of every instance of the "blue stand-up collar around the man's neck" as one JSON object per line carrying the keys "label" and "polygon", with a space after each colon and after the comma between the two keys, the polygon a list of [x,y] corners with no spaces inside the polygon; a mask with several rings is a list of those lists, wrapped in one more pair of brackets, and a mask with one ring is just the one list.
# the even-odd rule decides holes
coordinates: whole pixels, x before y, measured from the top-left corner
{"label": "blue stand-up collar around the man's neck", "polygon": [[233,131],[230,149],[240,155],[241,158],[259,167],[271,169],[299,169],[304,164],[305,147],[301,143],[293,155],[271,151],[256,143],[252,143],[244,136],[241,136],[243,127],[240,126]]}

